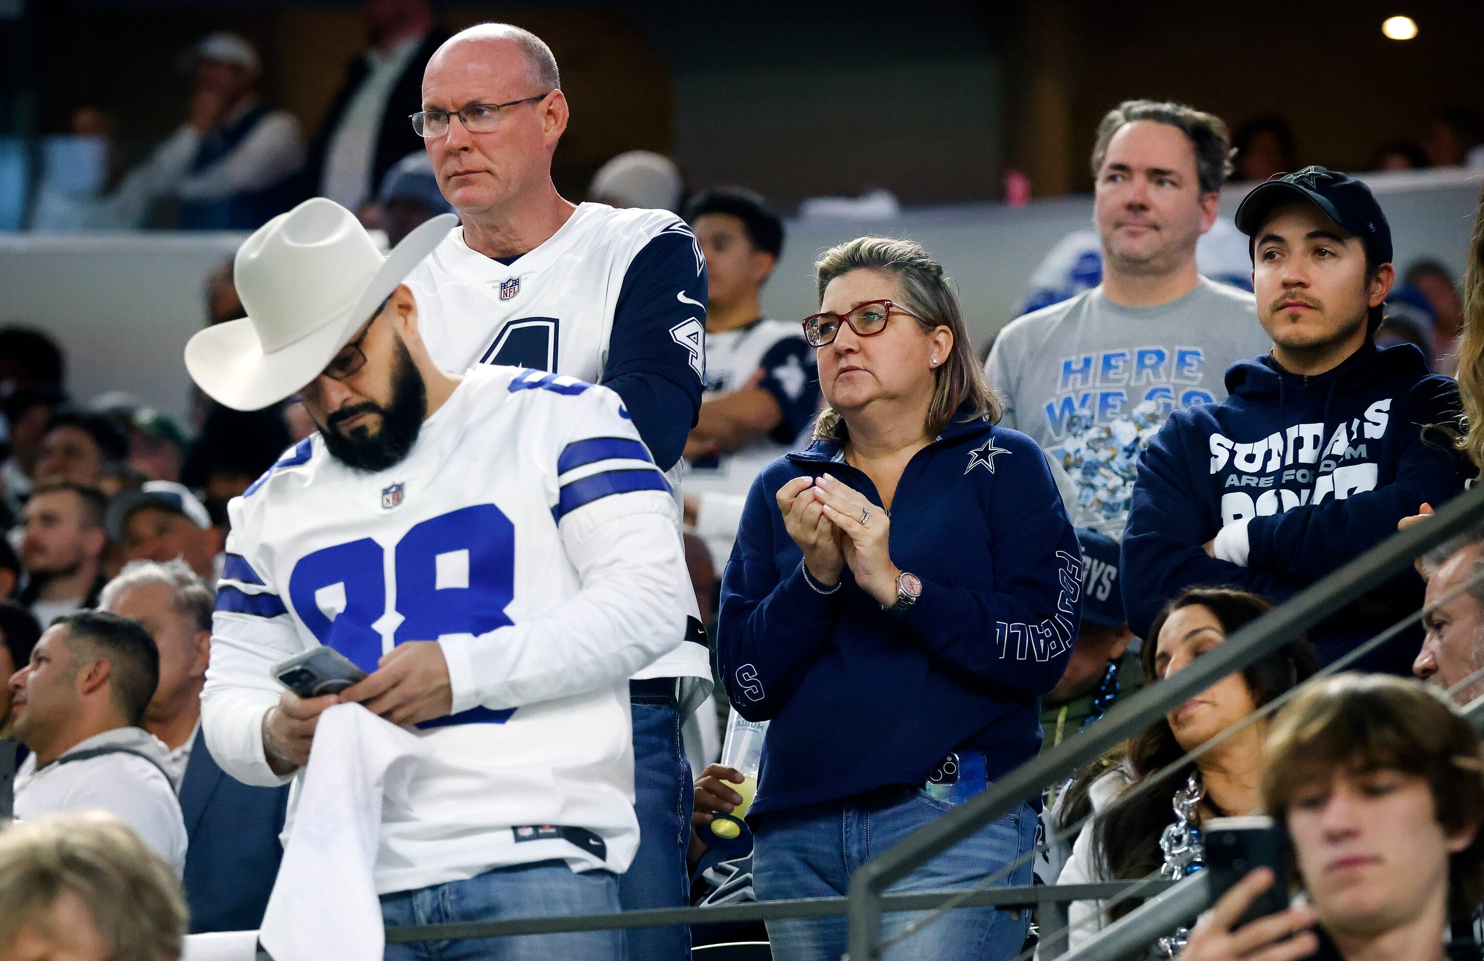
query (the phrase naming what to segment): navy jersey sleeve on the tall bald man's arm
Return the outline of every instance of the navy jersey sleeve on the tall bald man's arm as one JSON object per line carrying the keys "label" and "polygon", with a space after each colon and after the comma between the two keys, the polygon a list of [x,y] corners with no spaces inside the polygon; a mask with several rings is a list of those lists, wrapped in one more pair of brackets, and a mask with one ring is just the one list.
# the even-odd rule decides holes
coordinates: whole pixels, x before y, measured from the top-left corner
{"label": "navy jersey sleeve on the tall bald man's arm", "polygon": [[668,470],[696,426],[706,380],[706,264],[695,234],[675,222],[629,262],[613,311],[603,386]]}

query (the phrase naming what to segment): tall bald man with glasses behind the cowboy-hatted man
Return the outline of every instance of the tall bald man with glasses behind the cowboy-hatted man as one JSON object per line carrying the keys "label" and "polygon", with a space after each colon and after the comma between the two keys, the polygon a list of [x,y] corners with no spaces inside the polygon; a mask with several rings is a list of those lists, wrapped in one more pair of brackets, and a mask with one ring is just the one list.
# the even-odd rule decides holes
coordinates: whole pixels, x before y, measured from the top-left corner
{"label": "tall bald man with glasses behind the cowboy-hatted man", "polygon": [[[671,470],[705,383],[705,261],[669,211],[573,205],[556,193],[551,162],[567,120],[556,61],[534,34],[484,24],[433,53],[413,125],[463,224],[407,283],[441,368],[513,365],[603,384]],[[692,782],[680,728],[711,688],[692,614],[686,642],[631,685],[643,844],[622,879],[625,908],[689,902]],[[635,958],[690,957],[683,927],[634,928],[628,940]]]}

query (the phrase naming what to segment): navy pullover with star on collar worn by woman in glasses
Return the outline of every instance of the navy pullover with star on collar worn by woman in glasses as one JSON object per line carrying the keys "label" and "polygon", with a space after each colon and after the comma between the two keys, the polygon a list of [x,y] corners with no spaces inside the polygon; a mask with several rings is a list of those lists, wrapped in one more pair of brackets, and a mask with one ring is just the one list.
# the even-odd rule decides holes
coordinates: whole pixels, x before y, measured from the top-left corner
{"label": "navy pullover with star on collar worn by woman in glasses", "polygon": [[876,486],[821,440],[758,475],[721,580],[718,673],[732,706],[772,721],[752,811],[922,786],[953,750],[994,780],[1036,755],[1037,699],[1061,678],[1080,620],[1082,555],[1045,457],[1022,433],[951,423],[892,501],[892,561],[923,581],[902,614],[841,571],[821,595],[776,494],[830,473]]}

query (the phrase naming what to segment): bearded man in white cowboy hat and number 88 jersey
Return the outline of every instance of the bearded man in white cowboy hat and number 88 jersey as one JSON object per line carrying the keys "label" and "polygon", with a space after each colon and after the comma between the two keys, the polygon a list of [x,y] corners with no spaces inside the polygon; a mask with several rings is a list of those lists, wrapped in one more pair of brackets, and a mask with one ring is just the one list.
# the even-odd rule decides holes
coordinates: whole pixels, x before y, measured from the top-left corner
{"label": "bearded man in white cowboy hat and number 88 jersey", "polygon": [[[312,747],[350,749],[316,736],[335,704],[416,734],[405,802],[377,828],[389,925],[617,911],[640,841],[628,678],[680,644],[678,510],[614,393],[433,363],[401,282],[451,225],[423,224],[383,261],[350,211],[307,200],[237,252],[248,317],[187,346],[214,399],[298,393],[319,429],[229,504],[206,744],[269,786]],[[319,645],[370,676],[282,691],[275,664]],[[617,961],[625,945],[585,931],[386,957]]]}

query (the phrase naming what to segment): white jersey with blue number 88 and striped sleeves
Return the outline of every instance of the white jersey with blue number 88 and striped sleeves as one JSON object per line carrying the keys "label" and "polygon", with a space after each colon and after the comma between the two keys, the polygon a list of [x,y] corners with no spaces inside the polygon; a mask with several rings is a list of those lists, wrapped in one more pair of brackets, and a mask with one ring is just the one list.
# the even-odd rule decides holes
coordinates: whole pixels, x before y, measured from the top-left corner
{"label": "white jersey with blue number 88 and striped sleeves", "polygon": [[261,743],[273,664],[328,644],[371,672],[436,639],[453,713],[418,725],[432,750],[408,808],[383,814],[377,891],[558,857],[622,872],[638,847],[628,678],[681,642],[690,595],[674,510],[619,397],[539,371],[469,372],[380,473],[303,440],[229,506],[212,756],[282,783]]}

